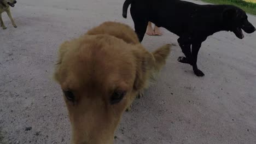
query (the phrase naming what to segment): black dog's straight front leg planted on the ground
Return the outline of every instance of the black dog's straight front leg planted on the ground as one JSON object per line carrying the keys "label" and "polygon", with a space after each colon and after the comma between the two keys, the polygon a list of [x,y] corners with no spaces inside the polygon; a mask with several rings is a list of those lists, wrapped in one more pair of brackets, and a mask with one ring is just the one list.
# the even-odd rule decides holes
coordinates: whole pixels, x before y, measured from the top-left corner
{"label": "black dog's straight front leg planted on the ground", "polygon": [[203,72],[197,68],[197,54],[201,47],[201,43],[193,43],[192,44],[192,59],[193,59],[193,70],[196,76],[204,76]]}

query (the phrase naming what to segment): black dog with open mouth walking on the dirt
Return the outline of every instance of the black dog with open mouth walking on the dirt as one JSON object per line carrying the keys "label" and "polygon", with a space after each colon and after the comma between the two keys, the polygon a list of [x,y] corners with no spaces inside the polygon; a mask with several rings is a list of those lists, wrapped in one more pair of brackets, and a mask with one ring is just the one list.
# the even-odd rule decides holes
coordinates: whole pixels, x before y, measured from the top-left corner
{"label": "black dog with open mouth walking on the dirt", "polygon": [[209,35],[231,31],[242,39],[242,29],[246,33],[255,31],[245,11],[233,5],[199,5],[179,0],[126,0],[123,5],[124,18],[130,4],[139,40],[143,40],[149,21],[177,34],[179,46],[185,55],[179,57],[178,61],[193,65],[197,76],[205,75],[197,68],[196,62],[201,43]]}

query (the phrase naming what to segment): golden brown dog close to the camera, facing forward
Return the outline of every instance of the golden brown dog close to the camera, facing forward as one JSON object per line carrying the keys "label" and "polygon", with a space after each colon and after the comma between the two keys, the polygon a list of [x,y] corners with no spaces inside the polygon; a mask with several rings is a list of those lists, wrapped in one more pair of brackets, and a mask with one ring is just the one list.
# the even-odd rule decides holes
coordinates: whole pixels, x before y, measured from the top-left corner
{"label": "golden brown dog close to the camera, facing forward", "polygon": [[133,29],[118,22],[63,43],[54,77],[68,108],[71,143],[113,143],[123,112],[169,53],[170,45],[148,52]]}

